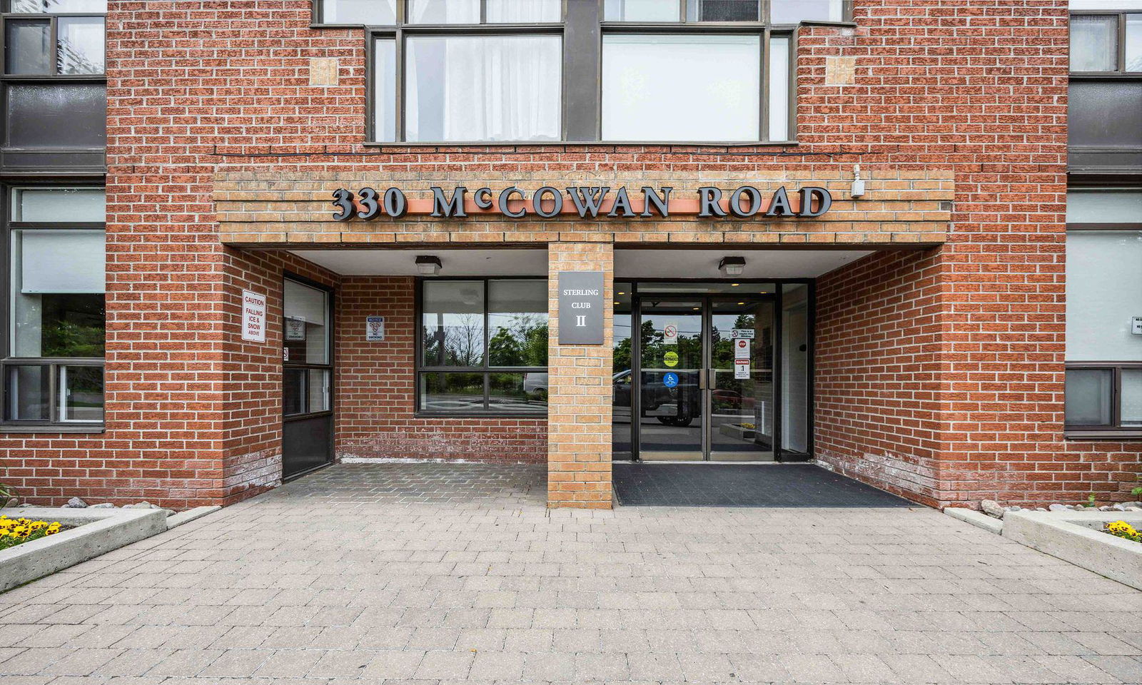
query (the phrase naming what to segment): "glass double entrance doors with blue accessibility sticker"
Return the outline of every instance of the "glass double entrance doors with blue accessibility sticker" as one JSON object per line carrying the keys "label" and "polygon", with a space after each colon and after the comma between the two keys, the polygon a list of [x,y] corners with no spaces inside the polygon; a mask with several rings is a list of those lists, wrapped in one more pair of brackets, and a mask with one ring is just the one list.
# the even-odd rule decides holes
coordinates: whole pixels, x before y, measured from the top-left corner
{"label": "glass double entrance doors with blue accessibility sticker", "polygon": [[641,298],[635,441],[644,461],[774,457],[774,301]]}

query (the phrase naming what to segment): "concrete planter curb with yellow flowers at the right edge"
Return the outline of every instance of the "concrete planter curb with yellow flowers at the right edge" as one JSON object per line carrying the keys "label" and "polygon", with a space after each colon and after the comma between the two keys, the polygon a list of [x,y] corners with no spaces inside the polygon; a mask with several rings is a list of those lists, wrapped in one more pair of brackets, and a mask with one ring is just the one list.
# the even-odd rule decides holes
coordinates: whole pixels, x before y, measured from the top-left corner
{"label": "concrete planter curb with yellow flowers at the right edge", "polygon": [[1111,521],[1142,527],[1142,511],[1008,511],[1003,537],[1142,590],[1142,543],[1102,532]]}

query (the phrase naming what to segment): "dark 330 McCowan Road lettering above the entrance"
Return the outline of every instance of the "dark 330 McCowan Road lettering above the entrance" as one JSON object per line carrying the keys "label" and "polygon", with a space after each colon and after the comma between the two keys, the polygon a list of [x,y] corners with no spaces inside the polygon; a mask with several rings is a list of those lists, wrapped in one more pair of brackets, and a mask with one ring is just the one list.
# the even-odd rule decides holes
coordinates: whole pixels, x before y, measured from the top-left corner
{"label": "dark 330 McCowan Road lettering above the entrance", "polygon": [[[766,196],[754,186],[740,186],[722,191],[703,186],[690,196],[671,196],[674,188],[642,186],[637,192],[628,192],[626,186],[570,186],[563,190],[554,186],[528,191],[509,186],[500,191],[490,187],[476,188],[472,193],[465,186],[456,186],[451,193],[440,186],[432,186],[432,198],[408,198],[401,188],[384,192],[361,188],[356,193],[346,188],[333,191],[333,219],[347,221],[352,218],[375,219],[378,217],[400,218],[404,215],[427,215],[440,218],[464,218],[469,215],[500,213],[518,219],[526,216],[553,218],[560,215],[578,215],[580,219],[610,218],[667,218],[671,215],[690,215],[699,218],[751,217],[781,218],[819,217],[829,211],[833,196],[820,186],[804,186],[794,192],[785,186]],[[566,195],[566,199],[564,199]],[[634,196],[632,196],[634,195]]]}

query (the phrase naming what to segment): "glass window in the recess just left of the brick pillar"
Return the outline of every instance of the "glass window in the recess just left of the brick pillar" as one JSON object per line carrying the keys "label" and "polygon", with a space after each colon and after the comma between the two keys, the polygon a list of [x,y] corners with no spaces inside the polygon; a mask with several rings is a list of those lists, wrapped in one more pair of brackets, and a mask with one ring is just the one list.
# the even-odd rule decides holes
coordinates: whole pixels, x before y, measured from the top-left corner
{"label": "glass window in the recess just left of the brick pillar", "polygon": [[424,281],[418,345],[419,411],[546,413],[546,281]]}

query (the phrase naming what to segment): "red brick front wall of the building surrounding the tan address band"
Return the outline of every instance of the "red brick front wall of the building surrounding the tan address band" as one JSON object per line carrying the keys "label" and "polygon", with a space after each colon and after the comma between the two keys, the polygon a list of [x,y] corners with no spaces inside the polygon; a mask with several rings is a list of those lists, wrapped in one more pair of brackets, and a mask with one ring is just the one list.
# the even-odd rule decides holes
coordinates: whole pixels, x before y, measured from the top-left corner
{"label": "red brick front wall of the building surrounding the tan address band", "polygon": [[[113,0],[106,432],[6,433],[3,480],[38,501],[78,493],[176,507],[227,501],[272,480],[280,344],[238,342],[233,317],[241,284],[268,289],[278,267],[219,244],[217,169],[360,175],[384,166],[416,178],[445,166],[463,182],[472,172],[668,177],[861,163],[872,178],[878,166],[955,169],[951,242],[938,258],[851,267],[893,274],[879,291],[861,289],[879,311],[902,292],[939,291],[943,373],[938,398],[919,401],[911,370],[880,385],[877,362],[900,356],[891,348],[845,366],[836,349],[910,340],[912,323],[885,320],[868,339],[852,338],[831,319],[866,315],[822,288],[821,330],[839,336],[819,340],[826,458],[935,501],[1125,497],[1142,443],[1068,443],[1061,430],[1065,2],[856,0],[855,19],[856,29],[799,31],[795,147],[377,148],[362,145],[360,29],[311,29],[308,0]],[[312,56],[340,61],[337,87],[308,84]],[[829,56],[855,58],[854,83],[825,83]],[[896,282],[930,272],[935,285]],[[866,285],[853,274],[825,283]],[[856,412],[839,409],[846,396],[864,397],[875,425],[854,429]],[[346,400],[344,410],[357,408],[341,414],[339,449],[405,440],[367,400]],[[907,416],[893,412],[898,404]],[[941,416],[924,419],[928,406]],[[437,429],[416,426],[405,433]],[[523,428],[538,437],[538,424]],[[936,484],[925,480],[932,459]]]}

